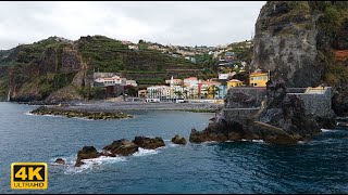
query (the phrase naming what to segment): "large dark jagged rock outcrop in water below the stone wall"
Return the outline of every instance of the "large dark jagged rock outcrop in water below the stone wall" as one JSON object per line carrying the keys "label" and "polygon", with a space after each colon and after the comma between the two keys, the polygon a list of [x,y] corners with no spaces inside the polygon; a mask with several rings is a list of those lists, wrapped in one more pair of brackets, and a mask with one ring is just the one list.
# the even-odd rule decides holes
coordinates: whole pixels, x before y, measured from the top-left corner
{"label": "large dark jagged rock outcrop in water below the stone wall", "polygon": [[279,80],[268,82],[266,102],[259,112],[246,116],[244,120],[225,118],[223,113],[219,113],[203,131],[192,129],[189,141],[261,139],[272,144],[295,144],[311,139],[321,132],[320,129],[315,118],[306,114],[303,102],[296,95],[287,94],[285,82]]}

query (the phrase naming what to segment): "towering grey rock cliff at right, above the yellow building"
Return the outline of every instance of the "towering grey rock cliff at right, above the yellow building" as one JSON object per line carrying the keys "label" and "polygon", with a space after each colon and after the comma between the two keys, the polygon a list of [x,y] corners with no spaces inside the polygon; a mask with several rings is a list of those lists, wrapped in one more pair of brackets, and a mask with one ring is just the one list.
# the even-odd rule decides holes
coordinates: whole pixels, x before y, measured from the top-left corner
{"label": "towering grey rock cliff at right, above the yellow building", "polygon": [[261,9],[251,68],[287,87],[334,87],[333,108],[348,114],[348,3],[272,1]]}

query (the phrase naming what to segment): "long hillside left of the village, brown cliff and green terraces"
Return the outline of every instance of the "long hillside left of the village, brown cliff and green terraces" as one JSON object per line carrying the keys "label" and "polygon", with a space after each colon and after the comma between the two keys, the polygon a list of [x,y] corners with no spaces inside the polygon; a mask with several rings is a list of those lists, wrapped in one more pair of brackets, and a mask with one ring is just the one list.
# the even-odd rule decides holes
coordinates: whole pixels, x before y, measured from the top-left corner
{"label": "long hillside left of the village, brown cliff and green terraces", "polygon": [[0,98],[13,101],[82,100],[90,94],[94,70],[122,73],[141,86],[163,83],[173,76],[204,76],[203,66],[139,44],[129,50],[103,36],[76,41],[50,37],[0,51]]}

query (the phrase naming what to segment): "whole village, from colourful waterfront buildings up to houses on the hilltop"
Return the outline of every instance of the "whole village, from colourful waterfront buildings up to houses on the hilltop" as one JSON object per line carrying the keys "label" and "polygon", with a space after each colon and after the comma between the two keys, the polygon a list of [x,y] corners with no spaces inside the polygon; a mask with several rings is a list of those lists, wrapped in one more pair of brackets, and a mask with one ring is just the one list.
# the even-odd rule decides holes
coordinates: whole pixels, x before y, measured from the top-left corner
{"label": "whole village, from colourful waterfront buildings up to houses on the hilltop", "polygon": [[[270,78],[269,73],[256,69],[252,73],[247,63],[238,57],[238,51],[248,50],[252,41],[243,41],[217,47],[181,47],[162,46],[159,43],[139,40],[138,43],[122,41],[129,50],[138,51],[141,48],[157,50],[172,57],[182,57],[197,63],[199,56],[209,55],[217,62],[216,78],[199,78],[191,76],[177,78],[179,75],[163,79],[158,84],[139,84],[136,80],[124,78],[121,73],[94,73],[92,88],[104,88],[108,98],[123,96],[125,101],[142,102],[210,102],[223,103],[229,88],[265,87]],[[241,76],[240,76],[241,75]],[[239,79],[237,79],[239,78]]]}

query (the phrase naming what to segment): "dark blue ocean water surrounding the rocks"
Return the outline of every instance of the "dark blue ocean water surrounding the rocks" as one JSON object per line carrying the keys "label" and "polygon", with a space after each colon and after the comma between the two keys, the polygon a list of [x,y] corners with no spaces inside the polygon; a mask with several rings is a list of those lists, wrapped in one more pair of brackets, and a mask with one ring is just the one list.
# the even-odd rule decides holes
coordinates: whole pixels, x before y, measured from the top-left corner
{"label": "dark blue ocean water surrounding the rocks", "polygon": [[[296,146],[262,141],[181,146],[171,138],[188,140],[190,129],[203,129],[213,114],[144,110],[129,112],[132,119],[96,121],[29,115],[35,107],[0,103],[0,193],[348,193],[345,130],[324,130]],[[84,145],[101,150],[136,135],[162,136],[166,146],[73,167]],[[54,165],[59,157],[69,165]],[[48,190],[11,190],[15,161],[47,162]]]}

